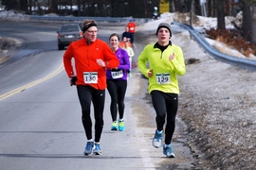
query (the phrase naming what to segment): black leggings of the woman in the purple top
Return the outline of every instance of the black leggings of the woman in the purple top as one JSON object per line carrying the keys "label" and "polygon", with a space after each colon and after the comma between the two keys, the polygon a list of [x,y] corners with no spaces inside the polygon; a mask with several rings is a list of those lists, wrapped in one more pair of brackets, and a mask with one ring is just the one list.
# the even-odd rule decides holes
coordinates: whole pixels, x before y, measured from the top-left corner
{"label": "black leggings of the woman in the purple top", "polygon": [[[107,90],[111,97],[110,112],[112,121],[117,121],[118,108],[119,119],[123,118],[124,114],[124,96],[127,88],[127,80],[107,79]],[[118,107],[119,106],[119,107]]]}

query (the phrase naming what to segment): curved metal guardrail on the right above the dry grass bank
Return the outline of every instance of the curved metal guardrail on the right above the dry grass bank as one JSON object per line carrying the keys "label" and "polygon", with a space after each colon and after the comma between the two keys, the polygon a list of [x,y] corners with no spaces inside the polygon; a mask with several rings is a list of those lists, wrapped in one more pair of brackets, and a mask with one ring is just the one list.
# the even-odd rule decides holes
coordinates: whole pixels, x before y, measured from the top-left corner
{"label": "curved metal guardrail on the right above the dry grass bank", "polygon": [[196,40],[196,42],[198,42],[207,51],[207,53],[209,53],[210,56],[212,56],[212,57],[216,57],[219,59],[227,59],[232,62],[243,63],[243,64],[246,64],[249,66],[254,66],[254,67],[256,66],[256,60],[241,59],[241,58],[229,56],[227,54],[224,54],[224,53],[218,51],[216,48],[214,48],[212,45],[210,45],[210,43],[207,42],[205,40],[205,38],[203,38],[195,29],[193,29],[192,26],[180,24],[180,23],[176,23],[176,22],[173,22],[172,25],[182,26],[182,27],[186,28],[187,30],[189,30],[192,37]]}

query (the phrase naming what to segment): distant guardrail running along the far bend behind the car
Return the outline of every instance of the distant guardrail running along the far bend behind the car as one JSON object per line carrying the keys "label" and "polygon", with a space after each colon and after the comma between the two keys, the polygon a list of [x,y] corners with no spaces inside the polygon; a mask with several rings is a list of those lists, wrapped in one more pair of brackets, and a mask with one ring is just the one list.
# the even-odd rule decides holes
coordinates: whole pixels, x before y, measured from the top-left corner
{"label": "distant guardrail running along the far bend behind the car", "polygon": [[[57,22],[82,22],[84,19],[92,19],[97,23],[115,23],[118,25],[126,25],[131,17],[119,18],[119,17],[72,17],[72,16],[40,16],[40,15],[31,15],[29,20],[37,21],[57,21]],[[152,18],[133,18],[137,25],[153,21]]]}

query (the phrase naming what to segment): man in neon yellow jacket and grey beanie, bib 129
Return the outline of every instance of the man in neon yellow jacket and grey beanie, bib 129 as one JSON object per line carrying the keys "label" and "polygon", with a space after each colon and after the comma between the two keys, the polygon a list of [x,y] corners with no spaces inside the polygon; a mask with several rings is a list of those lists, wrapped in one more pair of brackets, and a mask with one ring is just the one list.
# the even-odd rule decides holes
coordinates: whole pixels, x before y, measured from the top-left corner
{"label": "man in neon yellow jacket and grey beanie, bib 129", "polygon": [[186,73],[186,67],[182,49],[170,41],[172,38],[171,26],[161,23],[157,27],[156,36],[158,41],[145,46],[138,56],[137,64],[140,72],[149,79],[148,91],[152,96],[156,112],[156,130],[152,144],[157,148],[162,145],[166,120],[163,153],[168,158],[174,158],[171,141],[178,107],[177,76],[183,76]]}

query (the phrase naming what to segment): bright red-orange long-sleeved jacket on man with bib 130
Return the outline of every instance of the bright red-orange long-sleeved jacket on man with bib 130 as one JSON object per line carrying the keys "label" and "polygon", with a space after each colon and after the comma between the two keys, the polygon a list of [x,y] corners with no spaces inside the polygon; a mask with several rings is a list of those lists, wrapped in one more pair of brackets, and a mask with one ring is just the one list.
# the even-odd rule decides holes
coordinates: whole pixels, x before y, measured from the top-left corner
{"label": "bright red-orange long-sleeved jacket on man with bib 130", "polygon": [[[72,58],[75,63],[74,68],[72,66]],[[106,69],[98,65],[97,59],[105,61],[108,69],[119,66],[119,59],[106,42],[99,39],[89,45],[84,39],[71,42],[64,53],[65,72],[69,77],[76,73],[78,77],[77,85],[86,85],[83,80],[84,72],[97,72],[98,83],[90,83],[89,85],[95,89],[103,90],[106,88]],[[76,69],[76,72],[73,69]]]}

